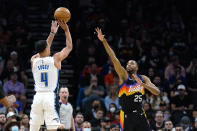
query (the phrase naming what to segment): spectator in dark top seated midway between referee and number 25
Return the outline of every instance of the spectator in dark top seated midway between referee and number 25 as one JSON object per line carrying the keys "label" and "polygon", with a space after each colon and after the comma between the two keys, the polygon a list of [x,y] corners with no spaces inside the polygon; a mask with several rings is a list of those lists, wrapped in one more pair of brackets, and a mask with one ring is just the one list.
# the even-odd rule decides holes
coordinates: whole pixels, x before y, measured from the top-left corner
{"label": "spectator in dark top seated midway between referee and number 25", "polygon": [[104,101],[102,97],[105,94],[105,89],[102,85],[98,85],[97,77],[92,77],[90,85],[84,90],[84,94],[85,98],[82,100],[82,107],[85,107],[88,102],[91,102],[94,99]]}

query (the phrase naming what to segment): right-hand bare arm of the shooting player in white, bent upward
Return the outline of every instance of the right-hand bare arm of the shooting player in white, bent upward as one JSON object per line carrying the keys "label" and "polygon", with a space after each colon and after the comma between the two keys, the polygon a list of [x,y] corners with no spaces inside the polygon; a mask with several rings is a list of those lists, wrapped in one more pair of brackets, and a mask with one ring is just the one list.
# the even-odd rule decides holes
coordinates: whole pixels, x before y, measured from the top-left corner
{"label": "right-hand bare arm of the shooting player in white, bent upward", "polygon": [[71,34],[68,28],[68,25],[64,21],[58,21],[58,24],[61,26],[61,28],[65,31],[65,36],[66,36],[66,47],[64,47],[60,52],[54,54],[54,59],[57,62],[61,62],[64,60],[69,53],[71,52],[73,45],[72,45],[72,38]]}

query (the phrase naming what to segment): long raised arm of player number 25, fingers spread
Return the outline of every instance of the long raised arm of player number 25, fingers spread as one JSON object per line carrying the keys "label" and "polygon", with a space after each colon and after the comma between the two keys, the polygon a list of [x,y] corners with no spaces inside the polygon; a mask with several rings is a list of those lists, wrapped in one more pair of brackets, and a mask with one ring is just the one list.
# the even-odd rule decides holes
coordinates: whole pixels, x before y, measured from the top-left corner
{"label": "long raised arm of player number 25, fingers spread", "polygon": [[106,39],[104,38],[104,35],[102,34],[101,29],[96,28],[96,32],[97,32],[98,39],[103,43],[107,54],[109,55],[110,59],[112,60],[114,64],[114,68],[120,78],[120,83],[123,83],[125,80],[128,79],[127,71],[121,66],[120,61],[116,58],[114,51],[111,49]]}

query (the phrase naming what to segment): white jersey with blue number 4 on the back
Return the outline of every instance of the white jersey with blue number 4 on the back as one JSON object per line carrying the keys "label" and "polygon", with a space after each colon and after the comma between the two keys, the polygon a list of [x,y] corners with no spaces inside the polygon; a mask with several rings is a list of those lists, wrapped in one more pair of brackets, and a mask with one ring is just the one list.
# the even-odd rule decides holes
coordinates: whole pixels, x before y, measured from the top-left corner
{"label": "white jersey with blue number 4 on the back", "polygon": [[32,72],[36,92],[55,91],[58,84],[59,70],[54,65],[53,57],[35,58]]}

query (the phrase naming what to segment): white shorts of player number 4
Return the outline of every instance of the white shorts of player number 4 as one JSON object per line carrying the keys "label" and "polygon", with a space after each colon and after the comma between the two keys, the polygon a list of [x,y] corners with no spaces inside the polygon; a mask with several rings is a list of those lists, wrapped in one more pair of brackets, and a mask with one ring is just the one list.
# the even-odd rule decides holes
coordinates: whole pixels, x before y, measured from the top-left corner
{"label": "white shorts of player number 4", "polygon": [[48,130],[57,129],[60,119],[55,99],[56,95],[53,92],[37,92],[31,105],[30,124],[40,126],[45,121]]}

